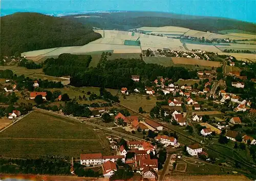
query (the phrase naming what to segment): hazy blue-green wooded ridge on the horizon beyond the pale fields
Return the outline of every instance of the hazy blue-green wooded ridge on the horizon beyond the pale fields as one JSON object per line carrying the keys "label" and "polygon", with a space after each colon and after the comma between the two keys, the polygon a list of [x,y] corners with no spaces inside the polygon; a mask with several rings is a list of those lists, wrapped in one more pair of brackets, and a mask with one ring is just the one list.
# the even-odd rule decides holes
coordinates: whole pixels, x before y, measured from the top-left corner
{"label": "hazy blue-green wooded ridge on the horizon beyond the pale fields", "polygon": [[247,32],[256,32],[256,25],[228,18],[190,16],[174,13],[161,12],[114,12],[114,13],[89,13],[86,16],[99,17],[79,17],[79,15],[66,16],[78,22],[90,24],[93,27],[103,29],[127,30],[139,27],[160,27],[179,26],[198,31],[218,32],[221,30],[237,29]]}

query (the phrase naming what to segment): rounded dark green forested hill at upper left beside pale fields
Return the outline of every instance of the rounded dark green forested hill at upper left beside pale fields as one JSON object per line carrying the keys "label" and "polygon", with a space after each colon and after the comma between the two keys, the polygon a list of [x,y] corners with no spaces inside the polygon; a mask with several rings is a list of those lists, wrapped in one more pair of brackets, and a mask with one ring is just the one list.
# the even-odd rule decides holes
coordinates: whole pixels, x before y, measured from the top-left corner
{"label": "rounded dark green forested hill at upper left beside pale fields", "polygon": [[39,13],[14,13],[1,20],[1,54],[81,46],[101,37],[92,27]]}

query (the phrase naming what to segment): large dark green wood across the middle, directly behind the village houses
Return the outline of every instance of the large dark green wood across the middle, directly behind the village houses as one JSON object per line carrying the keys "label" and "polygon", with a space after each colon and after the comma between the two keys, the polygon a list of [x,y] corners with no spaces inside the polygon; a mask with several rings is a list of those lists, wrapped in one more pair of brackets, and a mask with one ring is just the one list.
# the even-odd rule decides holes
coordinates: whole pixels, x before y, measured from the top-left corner
{"label": "large dark green wood across the middle, directly behind the village houses", "polygon": [[[134,82],[131,75],[140,75],[140,82]],[[158,76],[168,77],[177,81],[178,79],[196,78],[196,71],[188,71],[183,67],[164,67],[162,65],[145,63],[140,59],[116,59],[108,60],[97,67],[90,67],[70,79],[73,86],[100,86],[108,88],[150,86]]]}

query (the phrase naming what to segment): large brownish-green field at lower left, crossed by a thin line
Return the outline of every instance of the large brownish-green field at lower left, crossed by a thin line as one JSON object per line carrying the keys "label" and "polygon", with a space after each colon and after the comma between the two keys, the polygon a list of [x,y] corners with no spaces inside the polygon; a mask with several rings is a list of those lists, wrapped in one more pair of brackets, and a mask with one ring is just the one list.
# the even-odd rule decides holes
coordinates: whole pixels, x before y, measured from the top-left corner
{"label": "large brownish-green field at lower left, crossed by a thin line", "polygon": [[61,155],[78,157],[80,153],[111,154],[108,140],[101,131],[50,113],[34,111],[0,133],[3,157]]}

